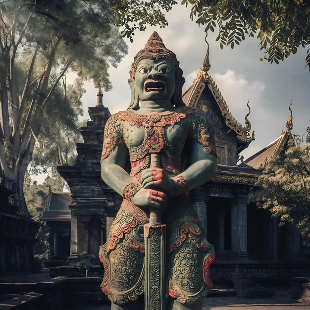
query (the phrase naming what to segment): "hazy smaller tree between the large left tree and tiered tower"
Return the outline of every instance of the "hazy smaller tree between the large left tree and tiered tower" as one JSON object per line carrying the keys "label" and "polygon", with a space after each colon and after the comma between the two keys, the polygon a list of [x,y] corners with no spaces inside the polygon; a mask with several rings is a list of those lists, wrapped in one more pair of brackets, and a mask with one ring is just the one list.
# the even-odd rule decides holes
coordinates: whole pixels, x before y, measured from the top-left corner
{"label": "hazy smaller tree between the large left tree and tiered tower", "polygon": [[40,139],[35,144],[27,176],[47,171],[56,176],[57,166],[75,163],[76,143],[82,139],[79,129],[87,122],[78,119],[83,113],[81,98],[85,89],[80,79],[76,79],[74,85],[66,85],[65,79],[61,84],[62,87],[58,88],[64,91],[54,94],[46,111]]}

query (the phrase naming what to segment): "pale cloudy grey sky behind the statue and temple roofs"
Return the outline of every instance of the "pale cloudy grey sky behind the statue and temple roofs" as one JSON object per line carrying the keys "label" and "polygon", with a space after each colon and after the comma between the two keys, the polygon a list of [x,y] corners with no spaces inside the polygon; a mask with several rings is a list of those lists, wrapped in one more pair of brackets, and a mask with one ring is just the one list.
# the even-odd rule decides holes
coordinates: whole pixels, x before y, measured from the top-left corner
{"label": "pale cloudy grey sky behind the statue and temple roofs", "polygon": [[[133,58],[144,48],[153,31],[157,31],[166,48],[177,55],[186,80],[183,91],[191,85],[206,55],[204,27],[191,21],[190,7],[177,4],[165,14],[169,25],[165,28],[148,26],[144,32],[135,32],[134,42],[128,45],[128,54],[110,67],[112,90],[103,94],[103,105],[111,113],[127,108],[131,94],[127,80]],[[249,120],[255,130],[255,141],[242,152],[245,158],[255,154],[280,136],[289,118],[288,106],[293,101],[293,134],[305,134],[310,126],[310,72],[306,66],[306,49],[298,49],[279,65],[260,61],[263,52],[259,40],[246,38],[240,46],[219,48],[217,33],[207,37],[211,69],[208,74],[219,87],[232,115],[245,124],[250,100]],[[307,48],[307,47],[306,47]],[[95,106],[97,90],[92,82],[85,82],[87,90],[82,97],[84,117],[89,118],[88,107]]]}

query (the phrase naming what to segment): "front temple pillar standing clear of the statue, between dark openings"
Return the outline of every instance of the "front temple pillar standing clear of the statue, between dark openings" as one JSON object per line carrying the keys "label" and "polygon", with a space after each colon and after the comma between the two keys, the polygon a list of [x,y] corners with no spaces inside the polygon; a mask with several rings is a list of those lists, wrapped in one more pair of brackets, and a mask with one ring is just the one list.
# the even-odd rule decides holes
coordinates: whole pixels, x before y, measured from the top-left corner
{"label": "front temple pillar standing clear of the statue, between dark openings", "polygon": [[231,205],[232,250],[239,254],[248,254],[247,196],[238,196]]}

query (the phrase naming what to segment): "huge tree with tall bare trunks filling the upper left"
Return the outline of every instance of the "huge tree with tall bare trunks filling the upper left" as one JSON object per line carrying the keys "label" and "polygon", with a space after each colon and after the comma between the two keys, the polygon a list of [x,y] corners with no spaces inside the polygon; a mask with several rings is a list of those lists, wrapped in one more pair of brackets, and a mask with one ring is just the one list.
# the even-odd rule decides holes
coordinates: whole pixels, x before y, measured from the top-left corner
{"label": "huge tree with tall bare trunks filling the upper left", "polygon": [[[68,70],[111,88],[107,69],[127,52],[123,36],[158,22],[175,1],[0,1],[0,164],[21,214],[29,216],[24,176]],[[145,15],[136,10],[143,6]],[[142,21],[142,24],[141,22]],[[118,31],[119,27],[121,33]]]}

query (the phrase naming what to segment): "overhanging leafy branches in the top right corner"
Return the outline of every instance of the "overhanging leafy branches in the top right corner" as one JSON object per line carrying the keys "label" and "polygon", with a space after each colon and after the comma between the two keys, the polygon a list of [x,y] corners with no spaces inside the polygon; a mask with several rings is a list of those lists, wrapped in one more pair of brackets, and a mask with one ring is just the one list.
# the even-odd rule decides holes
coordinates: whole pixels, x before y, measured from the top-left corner
{"label": "overhanging leafy branches in the top right corner", "polygon": [[[205,25],[205,32],[218,28],[219,46],[239,45],[245,34],[258,32],[260,50],[269,62],[279,63],[297,49],[310,44],[310,4],[306,0],[183,0],[192,5],[190,17]],[[310,70],[310,49],[306,63]]]}

